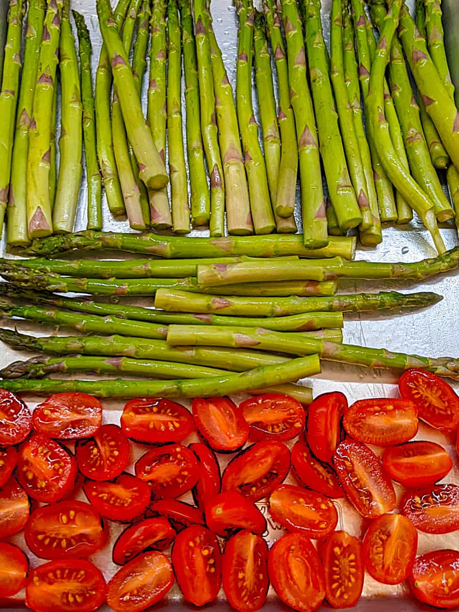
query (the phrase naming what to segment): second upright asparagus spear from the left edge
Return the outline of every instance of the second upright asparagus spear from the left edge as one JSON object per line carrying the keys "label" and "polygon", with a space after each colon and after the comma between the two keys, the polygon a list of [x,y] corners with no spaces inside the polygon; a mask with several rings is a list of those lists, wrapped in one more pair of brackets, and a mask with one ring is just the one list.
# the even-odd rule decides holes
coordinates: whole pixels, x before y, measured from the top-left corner
{"label": "second upright asparagus spear from the left edge", "polygon": [[[45,0],[32,0],[29,4],[24,50],[24,67],[21,78],[21,90],[19,94],[11,162],[7,225],[7,244],[10,246],[26,246],[30,244],[27,226],[27,181],[24,180],[24,160],[27,159],[29,151],[29,125],[31,122],[35,83],[37,81],[44,16]],[[20,28],[20,24],[18,24],[18,26]],[[15,38],[15,44],[19,43],[20,37],[18,36],[17,39]],[[5,136],[7,136],[7,134],[4,134],[4,137]],[[2,166],[2,171],[5,169],[5,166]],[[2,196],[2,198],[3,197],[4,196]]]}

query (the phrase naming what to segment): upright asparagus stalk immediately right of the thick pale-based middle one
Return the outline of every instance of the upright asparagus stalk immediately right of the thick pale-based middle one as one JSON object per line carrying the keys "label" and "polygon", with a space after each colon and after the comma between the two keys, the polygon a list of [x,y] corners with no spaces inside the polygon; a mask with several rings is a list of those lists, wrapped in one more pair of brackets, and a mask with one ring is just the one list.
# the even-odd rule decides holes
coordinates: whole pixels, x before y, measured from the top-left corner
{"label": "upright asparagus stalk immediately right of the thick pale-based middle one", "polygon": [[[253,226],[256,234],[270,234],[275,230],[272,214],[266,165],[258,141],[258,124],[253,114],[252,104],[252,63],[253,63],[253,4],[252,0],[237,0],[239,16],[239,45],[236,61],[236,102],[239,131],[244,147],[245,170],[247,171],[248,190],[250,193],[250,209],[239,207],[230,211],[226,206],[228,232],[247,234],[251,232],[249,223],[252,212]],[[266,153],[265,153],[266,155]],[[234,226],[230,228],[229,218],[233,218]],[[236,231],[235,231],[236,230]]]}

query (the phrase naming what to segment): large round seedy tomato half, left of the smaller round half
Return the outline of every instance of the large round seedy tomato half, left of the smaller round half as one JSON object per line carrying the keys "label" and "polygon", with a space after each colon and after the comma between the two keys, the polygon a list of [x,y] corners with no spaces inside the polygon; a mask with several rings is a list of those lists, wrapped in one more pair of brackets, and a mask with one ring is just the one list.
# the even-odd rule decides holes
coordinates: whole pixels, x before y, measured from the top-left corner
{"label": "large round seedy tomato half, left of the smaller round half", "polygon": [[76,461],[61,444],[35,433],[19,449],[18,480],[31,498],[51,503],[73,489]]}

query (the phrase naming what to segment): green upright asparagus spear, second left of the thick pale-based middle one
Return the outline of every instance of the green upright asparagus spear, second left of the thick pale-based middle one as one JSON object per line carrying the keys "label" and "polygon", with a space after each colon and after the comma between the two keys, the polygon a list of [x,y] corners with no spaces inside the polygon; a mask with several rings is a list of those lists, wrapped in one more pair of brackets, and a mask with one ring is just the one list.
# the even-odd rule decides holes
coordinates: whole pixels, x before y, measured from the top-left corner
{"label": "green upright asparagus spear, second left of the thick pale-based middle one", "polygon": [[211,203],[204,166],[203,139],[201,136],[200,90],[198,60],[194,33],[191,0],[180,0],[182,23],[182,50],[185,75],[185,110],[187,130],[187,155],[190,168],[192,225],[209,225]]}

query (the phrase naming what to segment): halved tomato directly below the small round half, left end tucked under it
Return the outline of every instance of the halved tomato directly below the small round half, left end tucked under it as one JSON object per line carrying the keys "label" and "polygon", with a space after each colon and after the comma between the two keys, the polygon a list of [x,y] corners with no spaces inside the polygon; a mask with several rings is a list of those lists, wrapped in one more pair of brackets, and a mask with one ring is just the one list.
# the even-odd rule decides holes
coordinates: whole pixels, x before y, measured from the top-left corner
{"label": "halved tomato directly below the small round half, left end tucked under it", "polygon": [[121,474],[113,482],[85,482],[84,493],[91,506],[102,517],[112,521],[132,521],[138,517],[151,499],[150,487],[130,474]]}

